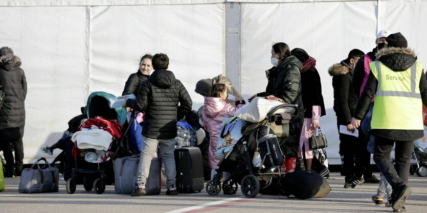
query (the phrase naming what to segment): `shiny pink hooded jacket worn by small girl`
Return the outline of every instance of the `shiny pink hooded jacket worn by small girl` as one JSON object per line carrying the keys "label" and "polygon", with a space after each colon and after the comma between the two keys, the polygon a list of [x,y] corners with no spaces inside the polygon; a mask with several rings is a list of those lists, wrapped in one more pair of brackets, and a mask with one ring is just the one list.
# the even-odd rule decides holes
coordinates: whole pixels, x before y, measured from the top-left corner
{"label": "shiny pink hooded jacket worn by small girl", "polygon": [[205,130],[209,132],[209,167],[218,169],[219,159],[215,157],[221,124],[224,120],[234,116],[237,107],[227,103],[221,98],[206,97],[203,111],[203,123]]}

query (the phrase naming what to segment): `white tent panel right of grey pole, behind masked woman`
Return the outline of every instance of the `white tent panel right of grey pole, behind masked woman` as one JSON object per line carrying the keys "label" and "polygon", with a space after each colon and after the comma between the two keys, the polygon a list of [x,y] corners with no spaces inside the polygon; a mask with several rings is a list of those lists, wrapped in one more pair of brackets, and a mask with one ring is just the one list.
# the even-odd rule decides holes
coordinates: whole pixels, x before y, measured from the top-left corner
{"label": "white tent panel right of grey pole, behind masked woman", "polygon": [[[321,117],[320,125],[328,138],[328,157],[338,160],[339,139],[328,68],[347,58],[354,48],[368,52],[375,47],[375,7],[375,2],[241,4],[242,93],[250,97],[265,91],[264,70],[272,67],[272,44],[285,42],[290,50],[306,50],[317,60],[322,80],[327,115]],[[332,163],[339,164],[336,160]]]}

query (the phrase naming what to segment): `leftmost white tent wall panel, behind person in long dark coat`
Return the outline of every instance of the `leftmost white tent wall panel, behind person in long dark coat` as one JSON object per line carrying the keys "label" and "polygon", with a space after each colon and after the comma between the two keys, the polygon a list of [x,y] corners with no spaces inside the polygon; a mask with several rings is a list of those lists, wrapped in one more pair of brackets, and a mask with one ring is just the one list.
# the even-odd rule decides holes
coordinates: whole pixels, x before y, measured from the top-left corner
{"label": "leftmost white tent wall panel, behind person in long dark coat", "polygon": [[27,78],[24,150],[30,163],[86,102],[86,8],[0,7],[0,13],[0,40],[20,57]]}

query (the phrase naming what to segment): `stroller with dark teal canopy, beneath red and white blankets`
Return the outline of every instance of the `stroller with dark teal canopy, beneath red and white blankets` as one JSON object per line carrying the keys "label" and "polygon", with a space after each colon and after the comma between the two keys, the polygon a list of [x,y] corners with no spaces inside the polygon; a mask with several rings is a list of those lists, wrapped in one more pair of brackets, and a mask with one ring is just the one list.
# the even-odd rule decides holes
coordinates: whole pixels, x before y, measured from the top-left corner
{"label": "stroller with dark teal canopy, beneath red and white blankets", "polygon": [[[114,184],[113,160],[119,156],[127,156],[129,149],[126,136],[129,125],[126,123],[126,109],[124,107],[110,109],[108,98],[113,98],[112,94],[106,92],[93,92],[87,99],[87,117],[94,118],[100,116],[103,119],[117,120],[123,126],[120,138],[113,138],[109,151],[112,156],[103,162],[89,162],[85,160],[85,154],[93,149],[82,149],[75,156],[76,168],[72,170],[71,178],[66,182],[66,191],[73,194],[76,191],[77,178],[83,177],[83,186],[86,191],[102,194],[106,184]],[[76,134],[76,133],[75,133]]]}

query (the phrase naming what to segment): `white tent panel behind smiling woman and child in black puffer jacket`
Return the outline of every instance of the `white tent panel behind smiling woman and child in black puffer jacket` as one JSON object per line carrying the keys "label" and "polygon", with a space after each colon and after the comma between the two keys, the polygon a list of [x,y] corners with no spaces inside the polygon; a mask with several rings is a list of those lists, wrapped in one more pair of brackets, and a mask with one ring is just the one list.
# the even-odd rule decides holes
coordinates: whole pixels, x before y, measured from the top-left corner
{"label": "white tent panel behind smiling woman and child in black puffer jacket", "polygon": [[200,106],[194,87],[222,73],[222,36],[222,4],[92,7],[90,90],[120,96],[142,55],[165,53]]}

